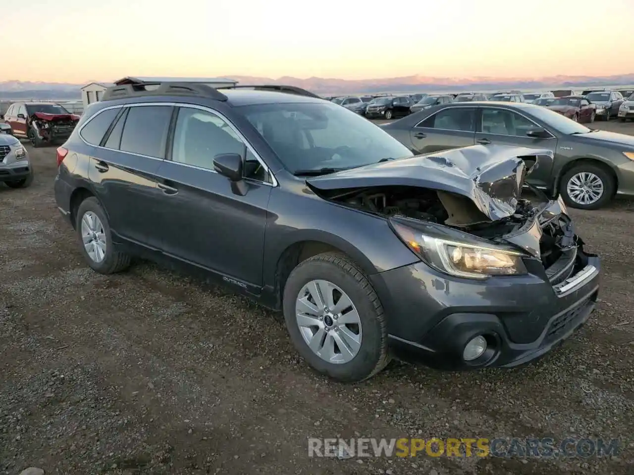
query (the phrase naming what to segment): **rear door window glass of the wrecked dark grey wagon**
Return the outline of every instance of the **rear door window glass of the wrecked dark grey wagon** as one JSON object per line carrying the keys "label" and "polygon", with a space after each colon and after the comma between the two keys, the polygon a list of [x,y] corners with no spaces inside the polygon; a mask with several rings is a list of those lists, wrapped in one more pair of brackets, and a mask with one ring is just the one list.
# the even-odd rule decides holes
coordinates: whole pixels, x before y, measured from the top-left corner
{"label": "rear door window glass of the wrecked dark grey wagon", "polygon": [[120,150],[165,158],[165,141],[172,106],[136,106],[127,113]]}

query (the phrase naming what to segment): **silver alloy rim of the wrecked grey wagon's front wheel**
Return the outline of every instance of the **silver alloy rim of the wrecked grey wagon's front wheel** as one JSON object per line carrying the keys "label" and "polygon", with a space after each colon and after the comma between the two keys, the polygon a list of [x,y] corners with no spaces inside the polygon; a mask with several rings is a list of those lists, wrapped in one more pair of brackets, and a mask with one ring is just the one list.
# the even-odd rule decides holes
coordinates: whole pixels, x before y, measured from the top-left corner
{"label": "silver alloy rim of the wrecked grey wagon's front wheel", "polygon": [[295,301],[295,319],[306,345],[329,363],[347,363],[361,348],[361,319],[356,307],[330,281],[310,281],[301,289]]}

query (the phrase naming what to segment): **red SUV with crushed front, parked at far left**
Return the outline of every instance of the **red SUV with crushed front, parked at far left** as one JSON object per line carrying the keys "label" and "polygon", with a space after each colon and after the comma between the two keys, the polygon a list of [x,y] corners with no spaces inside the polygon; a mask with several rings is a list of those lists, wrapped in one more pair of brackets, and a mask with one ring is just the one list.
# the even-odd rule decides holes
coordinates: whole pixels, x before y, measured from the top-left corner
{"label": "red SUV with crushed front, parked at far left", "polygon": [[4,114],[13,134],[27,137],[34,147],[65,141],[78,121],[79,116],[54,103],[14,103]]}

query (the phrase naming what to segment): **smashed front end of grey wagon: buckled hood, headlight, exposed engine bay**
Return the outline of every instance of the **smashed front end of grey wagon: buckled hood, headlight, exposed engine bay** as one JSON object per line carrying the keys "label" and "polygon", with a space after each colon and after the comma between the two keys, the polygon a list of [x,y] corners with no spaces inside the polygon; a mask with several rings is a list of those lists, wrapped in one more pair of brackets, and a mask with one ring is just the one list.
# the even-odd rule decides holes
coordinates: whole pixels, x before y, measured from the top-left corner
{"label": "smashed front end of grey wagon: buckled hood, headlight, exposed engine bay", "polygon": [[[588,256],[562,200],[525,183],[552,152],[473,146],[307,179],[322,198],[389,219],[422,260],[457,277],[537,272],[553,286]],[[528,198],[530,196],[530,198]],[[526,269],[525,258],[541,269]],[[532,258],[532,259],[531,259]]]}

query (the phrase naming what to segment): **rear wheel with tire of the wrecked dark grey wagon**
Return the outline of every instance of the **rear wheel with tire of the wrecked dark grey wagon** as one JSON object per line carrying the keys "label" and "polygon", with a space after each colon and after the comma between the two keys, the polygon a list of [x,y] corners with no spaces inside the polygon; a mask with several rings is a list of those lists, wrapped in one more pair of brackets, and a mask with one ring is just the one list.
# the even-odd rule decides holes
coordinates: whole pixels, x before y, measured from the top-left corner
{"label": "rear wheel with tire of the wrecked dark grey wagon", "polygon": [[113,246],[108,218],[96,198],[86,198],[79,205],[75,229],[82,255],[91,269],[100,274],[115,274],[129,267],[129,255]]}

